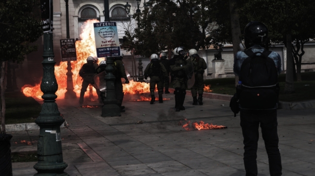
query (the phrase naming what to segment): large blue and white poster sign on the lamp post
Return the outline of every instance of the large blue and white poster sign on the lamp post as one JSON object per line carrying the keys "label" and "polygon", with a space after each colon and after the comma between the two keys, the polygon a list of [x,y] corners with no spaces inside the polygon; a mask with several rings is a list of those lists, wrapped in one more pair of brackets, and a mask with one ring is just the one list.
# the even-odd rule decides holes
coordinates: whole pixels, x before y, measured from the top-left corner
{"label": "large blue and white poster sign on the lamp post", "polygon": [[94,23],[97,58],[120,56],[116,22]]}

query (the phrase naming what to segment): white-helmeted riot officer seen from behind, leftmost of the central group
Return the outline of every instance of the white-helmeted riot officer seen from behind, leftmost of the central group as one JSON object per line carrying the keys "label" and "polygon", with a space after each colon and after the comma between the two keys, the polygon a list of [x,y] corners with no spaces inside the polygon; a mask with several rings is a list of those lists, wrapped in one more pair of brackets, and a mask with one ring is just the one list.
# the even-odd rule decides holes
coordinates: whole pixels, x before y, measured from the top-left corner
{"label": "white-helmeted riot officer seen from behind, leftmost of the central group", "polygon": [[168,73],[164,67],[164,65],[159,62],[157,54],[152,54],[150,56],[151,62],[146,66],[144,70],[144,79],[148,79],[150,77],[150,94],[151,94],[151,102],[153,104],[155,102],[154,89],[157,85],[158,92],[158,103],[163,103],[163,84],[162,78],[168,76]]}

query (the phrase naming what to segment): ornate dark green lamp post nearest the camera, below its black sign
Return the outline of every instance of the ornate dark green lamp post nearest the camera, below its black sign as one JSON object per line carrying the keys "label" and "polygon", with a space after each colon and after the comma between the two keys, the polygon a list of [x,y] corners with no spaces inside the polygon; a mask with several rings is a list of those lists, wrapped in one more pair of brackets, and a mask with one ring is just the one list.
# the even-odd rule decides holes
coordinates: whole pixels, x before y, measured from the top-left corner
{"label": "ornate dark green lamp post nearest the camera, below its black sign", "polygon": [[64,123],[56,103],[58,89],[55,77],[52,32],[44,33],[43,78],[41,90],[44,103],[35,123],[40,127],[37,144],[38,162],[34,165],[37,174],[34,176],[69,176],[63,172],[68,166],[63,162],[60,125]]}

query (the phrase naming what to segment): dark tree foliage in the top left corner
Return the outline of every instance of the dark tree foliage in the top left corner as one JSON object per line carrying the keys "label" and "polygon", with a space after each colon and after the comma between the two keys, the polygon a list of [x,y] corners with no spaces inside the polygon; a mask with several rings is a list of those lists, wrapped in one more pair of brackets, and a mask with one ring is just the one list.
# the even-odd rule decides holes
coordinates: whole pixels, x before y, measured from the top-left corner
{"label": "dark tree foliage in the top left corner", "polygon": [[21,62],[42,34],[39,0],[0,1],[0,61]]}

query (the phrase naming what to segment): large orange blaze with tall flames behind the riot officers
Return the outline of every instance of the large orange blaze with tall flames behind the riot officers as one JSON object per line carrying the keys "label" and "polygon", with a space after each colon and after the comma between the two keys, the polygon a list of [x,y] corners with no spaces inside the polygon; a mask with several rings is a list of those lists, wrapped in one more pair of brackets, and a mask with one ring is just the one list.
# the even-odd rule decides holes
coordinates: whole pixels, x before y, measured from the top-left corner
{"label": "large orange blaze with tall flames behind the riot officers", "polygon": [[[77,81],[81,79],[78,76],[79,70],[81,66],[86,63],[86,59],[89,56],[96,56],[96,47],[95,47],[95,39],[94,39],[94,27],[93,23],[99,22],[96,19],[88,20],[84,22],[82,26],[82,33],[80,34],[80,41],[76,42],[76,50],[77,50],[77,61],[71,61],[72,67],[72,80],[73,80],[73,87],[74,91],[77,94],[77,97],[80,95],[81,90],[81,82]],[[100,62],[103,59],[99,59]],[[66,92],[67,88],[67,62],[60,62],[59,65],[55,65],[55,75],[58,83],[58,90],[56,95],[58,96],[57,99],[63,99],[64,93]],[[124,84],[124,92],[125,94],[140,94],[140,93],[147,93],[150,92],[149,90],[150,85],[148,83],[140,83],[130,81],[129,84]],[[95,88],[93,89],[93,96],[97,97],[97,93]],[[21,88],[21,91],[24,95],[28,97],[36,97],[37,99],[42,99],[43,92],[40,89],[40,83],[36,84],[35,86],[31,85],[24,85]],[[91,99],[91,93],[88,91],[85,93],[85,97]]]}

